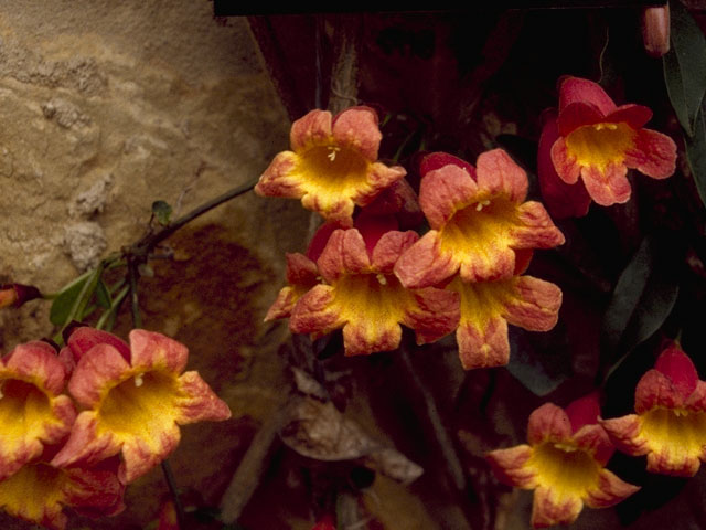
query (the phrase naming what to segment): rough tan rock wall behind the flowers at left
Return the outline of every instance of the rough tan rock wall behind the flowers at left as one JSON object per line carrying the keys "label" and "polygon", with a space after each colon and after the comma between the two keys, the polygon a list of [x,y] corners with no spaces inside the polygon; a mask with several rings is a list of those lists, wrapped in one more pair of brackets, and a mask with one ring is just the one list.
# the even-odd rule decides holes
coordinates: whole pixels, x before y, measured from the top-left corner
{"label": "rough tan rock wall behind the flowers at left", "polygon": [[[287,148],[289,123],[246,21],[212,9],[0,2],[0,282],[55,290],[135,242],[152,201],[183,214],[256,179]],[[140,286],[145,327],[188,343],[189,368],[236,417],[275,403],[281,328],[266,335],[261,319],[307,219],[293,201],[247,193],[167,241],[174,258],[153,262]],[[0,311],[2,352],[51,335],[47,312],[42,300]],[[128,328],[126,316],[117,331]],[[252,430],[249,420],[182,430],[180,487],[217,505]],[[125,515],[87,524],[142,528],[164,494],[154,470],[129,488]]]}

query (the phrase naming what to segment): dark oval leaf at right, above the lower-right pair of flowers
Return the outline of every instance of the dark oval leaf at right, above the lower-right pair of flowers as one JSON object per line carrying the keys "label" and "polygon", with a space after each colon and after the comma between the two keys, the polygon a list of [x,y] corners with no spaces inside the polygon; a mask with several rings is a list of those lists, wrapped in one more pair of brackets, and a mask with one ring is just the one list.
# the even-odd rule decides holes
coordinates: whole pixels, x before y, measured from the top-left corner
{"label": "dark oval leaf at right, above the lower-right pair of flowers", "polygon": [[611,359],[652,337],[672,312],[678,295],[672,256],[666,237],[646,236],[618,278],[602,326]]}

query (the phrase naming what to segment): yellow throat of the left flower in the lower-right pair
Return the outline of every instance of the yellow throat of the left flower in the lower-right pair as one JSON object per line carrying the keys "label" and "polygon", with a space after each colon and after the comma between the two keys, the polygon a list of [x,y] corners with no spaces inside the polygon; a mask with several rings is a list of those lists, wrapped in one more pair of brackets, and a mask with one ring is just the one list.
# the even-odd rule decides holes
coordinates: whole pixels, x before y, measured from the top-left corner
{"label": "yellow throat of the left flower in the lower-right pair", "polygon": [[554,442],[535,446],[527,465],[536,469],[539,486],[559,498],[584,497],[587,489],[597,487],[601,469],[586,451]]}

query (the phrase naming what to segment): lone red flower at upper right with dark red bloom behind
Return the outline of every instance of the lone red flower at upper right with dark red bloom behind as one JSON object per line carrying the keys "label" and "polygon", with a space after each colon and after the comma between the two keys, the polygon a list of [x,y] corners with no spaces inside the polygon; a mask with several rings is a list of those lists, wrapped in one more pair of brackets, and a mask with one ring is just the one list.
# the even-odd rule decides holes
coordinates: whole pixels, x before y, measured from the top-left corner
{"label": "lone red flower at upper right with dark red bloom behind", "polygon": [[651,117],[652,110],[642,105],[617,106],[591,81],[563,78],[558,112],[545,116],[537,159],[552,214],[585,215],[591,200],[603,206],[627,202],[629,168],[653,179],[674,173],[676,145],[643,127]]}

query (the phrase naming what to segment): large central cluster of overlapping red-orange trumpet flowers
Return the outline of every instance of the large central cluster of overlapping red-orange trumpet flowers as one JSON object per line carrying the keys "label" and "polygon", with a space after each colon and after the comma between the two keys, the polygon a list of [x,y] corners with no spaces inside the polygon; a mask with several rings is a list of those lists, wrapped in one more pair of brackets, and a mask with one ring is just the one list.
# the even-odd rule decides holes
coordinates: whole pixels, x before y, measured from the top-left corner
{"label": "large central cluster of overlapping red-orange trumpet flowers", "polygon": [[[545,331],[557,321],[559,288],[522,273],[535,248],[564,236],[541,203],[525,202],[526,173],[503,150],[482,153],[478,168],[425,157],[417,199],[404,169],[375,161],[381,137],[365,107],[293,124],[293,151],[255,190],[301,197],[328,222],[306,255],[287,256],[289,285],[266,320],[290,317],[292,332],[313,337],[342,328],[349,356],[394,350],[400,325],[419,344],[456,330],[463,368],[505,364],[509,322]],[[431,230],[400,231],[419,209]]]}

